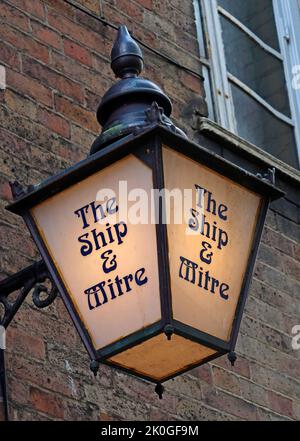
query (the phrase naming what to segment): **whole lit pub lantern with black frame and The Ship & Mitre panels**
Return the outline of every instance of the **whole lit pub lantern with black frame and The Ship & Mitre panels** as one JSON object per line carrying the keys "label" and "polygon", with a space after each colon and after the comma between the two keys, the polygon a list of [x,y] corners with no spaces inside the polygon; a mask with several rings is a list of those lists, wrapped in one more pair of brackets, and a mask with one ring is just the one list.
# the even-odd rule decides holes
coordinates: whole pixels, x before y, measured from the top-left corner
{"label": "whole lit pub lantern with black frame and The Ship & Mitre panels", "polygon": [[100,103],[90,156],[27,192],[14,185],[8,210],[23,217],[39,277],[58,289],[93,372],[106,363],[156,383],[161,397],[161,383],[191,368],[223,354],[234,363],[268,205],[282,192],[272,173],[189,141],[142,67],[121,26],[121,79]]}

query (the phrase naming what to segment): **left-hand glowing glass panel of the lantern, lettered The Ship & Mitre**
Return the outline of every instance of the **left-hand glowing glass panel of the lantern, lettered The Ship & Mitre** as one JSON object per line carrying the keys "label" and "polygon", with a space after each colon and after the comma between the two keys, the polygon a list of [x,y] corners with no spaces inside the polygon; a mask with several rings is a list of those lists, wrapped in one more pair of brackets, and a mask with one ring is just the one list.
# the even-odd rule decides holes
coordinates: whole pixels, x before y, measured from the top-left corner
{"label": "left-hand glowing glass panel of the lantern, lettered The Ship & Mitre", "polygon": [[123,204],[152,188],[152,170],[129,155],[31,210],[96,350],[161,319],[156,226],[127,219],[136,202]]}

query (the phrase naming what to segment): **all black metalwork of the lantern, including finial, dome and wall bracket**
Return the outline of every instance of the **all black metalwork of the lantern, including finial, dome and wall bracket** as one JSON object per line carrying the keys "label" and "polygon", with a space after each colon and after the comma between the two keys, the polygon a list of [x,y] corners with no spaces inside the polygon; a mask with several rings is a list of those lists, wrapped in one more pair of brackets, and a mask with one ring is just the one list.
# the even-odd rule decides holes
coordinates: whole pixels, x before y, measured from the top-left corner
{"label": "all black metalwork of the lantern, including finial, dome and wall bracket", "polygon": [[[155,84],[148,80],[137,78],[142,70],[142,66],[143,57],[138,45],[130,37],[127,29],[121,26],[118,39],[112,50],[112,68],[121,80],[111,87],[100,103],[97,115],[99,122],[103,126],[103,130],[102,134],[92,145],[91,156],[59,175],[48,179],[37,187],[31,186],[27,190],[24,190],[18,183],[15,183],[12,185],[15,202],[7,207],[9,211],[23,217],[37,244],[42,260],[0,281],[0,305],[4,308],[4,314],[0,317],[0,325],[7,328],[32,289],[34,289],[33,302],[38,308],[50,305],[59,292],[90,355],[92,360],[90,367],[94,374],[97,373],[100,362],[112,364],[112,362],[108,361],[110,357],[161,333],[165,333],[168,339],[172,338],[172,334],[175,333],[216,351],[213,356],[202,360],[199,364],[206,363],[226,353],[229,355],[229,360],[234,363],[236,359],[234,349],[268,206],[270,201],[280,198],[284,194],[275,187],[274,174],[270,173],[267,177],[262,174],[251,174],[221,156],[214,154],[205,148],[205,145],[200,146],[189,141],[184,133],[169,119],[171,113],[169,98]],[[205,137],[202,138],[204,144],[206,144]],[[30,209],[43,200],[82,181],[129,154],[136,155],[152,169],[154,188],[158,190],[163,189],[162,148],[164,145],[183,153],[185,156],[219,172],[223,176],[238,182],[240,185],[262,196],[263,202],[260,207],[259,218],[236,309],[232,333],[229,341],[223,341],[180,323],[173,318],[167,227],[162,223],[161,219],[159,219],[156,225],[157,256],[159,267],[164,268],[164,271],[160,271],[159,273],[162,318],[159,322],[144,330],[135,332],[116,343],[97,350],[72,303],[70,294],[30,214]],[[209,142],[207,145],[209,146]],[[49,290],[42,285],[47,279],[51,282],[51,288]],[[11,300],[10,295],[15,291],[19,291],[19,293]],[[44,293],[43,297],[42,293]],[[3,352],[1,352],[0,378],[3,383],[2,390],[5,392],[3,355]],[[194,368],[199,364],[191,365],[186,370]],[[120,366],[114,366],[122,369]],[[128,371],[126,369],[123,370]],[[128,372],[133,374],[132,371]],[[181,373],[183,373],[183,371],[172,376],[167,376],[161,381],[166,381]],[[150,377],[137,373],[134,374],[154,382]],[[156,391],[160,397],[162,390],[161,385],[158,385]]]}

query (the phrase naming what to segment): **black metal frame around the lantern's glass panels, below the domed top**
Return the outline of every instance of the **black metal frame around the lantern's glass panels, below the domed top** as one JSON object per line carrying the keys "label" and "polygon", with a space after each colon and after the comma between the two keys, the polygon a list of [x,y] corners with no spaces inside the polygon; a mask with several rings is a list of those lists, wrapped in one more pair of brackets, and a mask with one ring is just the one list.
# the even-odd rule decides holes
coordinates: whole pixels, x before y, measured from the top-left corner
{"label": "black metal frame around the lantern's glass panels, below the domed top", "polygon": [[[162,222],[159,222],[156,226],[158,244],[157,255],[159,267],[164,268],[164,271],[161,271],[159,274],[162,319],[144,330],[133,333],[132,335],[129,335],[116,343],[110,344],[103,349],[96,350],[88,334],[88,331],[81,321],[71,301],[66,286],[64,285],[63,280],[61,279],[59,272],[30,214],[30,209],[41,201],[61,192],[62,190],[72,186],[77,182],[82,181],[93,173],[109,166],[110,164],[129,154],[136,155],[140,160],[144,161],[149,167],[151,167],[153,172],[154,188],[162,189],[164,188],[162,159],[163,146],[167,146],[171,149],[183,153],[187,157],[190,157],[191,159],[209,167],[210,169],[219,172],[223,176],[226,176],[231,180],[238,182],[240,185],[243,185],[246,188],[255,191],[262,196],[263,202],[261,204],[260,214],[252,244],[252,250],[250,253],[247,270],[244,276],[240,298],[236,309],[231,337],[229,341],[223,341],[173,319],[168,262],[167,230],[166,225],[162,224]],[[94,155],[88,157],[84,161],[78,163],[77,165],[71,167],[63,173],[53,178],[50,178],[45,183],[39,185],[38,188],[34,189],[33,191],[30,191],[27,194],[23,194],[23,196],[18,198],[8,207],[9,211],[23,217],[43,258],[43,261],[39,262],[37,266],[33,266],[31,267],[31,269],[24,270],[24,272],[21,272],[19,274],[20,281],[17,287],[21,287],[23,285],[24,286],[20,294],[20,300],[13,308],[13,312],[16,312],[22,299],[26,297],[26,293],[30,291],[30,289],[36,282],[41,282],[45,278],[50,278],[53,281],[54,286],[57,287],[65,303],[65,306],[74,322],[74,325],[91,357],[91,369],[95,373],[98,370],[100,362],[112,365],[111,362],[107,361],[108,358],[163,332],[168,338],[171,338],[172,334],[175,333],[217,351],[216,354],[214,354],[213,356],[202,360],[202,362],[199,364],[189,366],[186,370],[199,366],[200,364],[206,363],[226,353],[229,354],[230,361],[234,363],[236,358],[234,349],[269,202],[279,197],[282,197],[282,195],[282,191],[275,187],[272,180],[267,180],[263,176],[257,176],[247,172],[243,168],[234,165],[233,163],[207,150],[206,148],[199,146],[182,136],[179,136],[177,133],[173,133],[169,129],[166,129],[159,121],[152,122],[152,124],[149,124],[149,127],[145,128],[144,131],[139,131],[136,134],[133,133],[123,138],[122,140],[119,140],[112,145],[100,150],[100,152],[95,153]],[[33,277],[33,275],[35,275],[35,277]],[[28,278],[30,282],[28,282]],[[23,283],[21,283],[21,280]],[[2,282],[2,285],[0,284],[0,291],[2,291],[1,288],[3,288],[3,286],[6,286],[6,293],[8,293],[10,285],[11,287],[13,286],[13,284],[10,284],[9,281],[4,281],[4,283]],[[16,287],[16,285],[14,285],[14,287]],[[39,288],[39,290],[41,289]],[[53,295],[50,296],[50,299],[53,300],[53,297]],[[1,298],[2,297],[0,297],[0,302]],[[123,369],[119,366],[115,367]],[[133,373],[132,371],[128,371],[127,369],[123,370],[131,374]],[[183,371],[177,373],[176,375],[179,375],[181,373],[183,373]],[[135,375],[140,376],[141,378],[144,378],[148,381],[154,382],[154,380],[150,377],[136,373]],[[176,375],[165,377],[161,380],[161,382],[167,381]]]}

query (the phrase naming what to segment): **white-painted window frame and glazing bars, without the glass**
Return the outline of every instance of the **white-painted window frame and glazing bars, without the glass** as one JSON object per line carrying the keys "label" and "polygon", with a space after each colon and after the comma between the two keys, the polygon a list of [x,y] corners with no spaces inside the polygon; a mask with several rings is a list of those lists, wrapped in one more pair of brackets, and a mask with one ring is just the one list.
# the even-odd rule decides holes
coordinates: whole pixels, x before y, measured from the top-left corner
{"label": "white-painted window frame and glazing bars, without the glass", "polygon": [[[200,5],[203,22],[200,16]],[[273,0],[280,52],[267,45],[247,26],[243,25],[228,11],[219,6],[217,0],[194,0],[194,10],[200,58],[205,67],[205,83],[209,81],[210,77],[217,122],[224,128],[238,134],[230,87],[230,82],[234,83],[276,118],[293,127],[300,163],[300,89],[295,90],[292,87],[293,69],[295,66],[300,65],[300,0]],[[220,15],[225,16],[228,20],[233,22],[267,53],[272,54],[283,62],[291,108],[290,118],[276,110],[254,90],[227,71]],[[206,36],[207,58],[203,35]],[[298,45],[297,42],[299,42]],[[211,94],[211,91],[206,84],[207,97],[209,94]],[[212,114],[212,110],[210,109],[212,103],[208,104],[210,114]],[[209,115],[209,117],[211,117],[211,115]]]}

